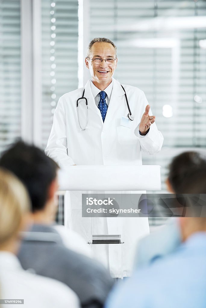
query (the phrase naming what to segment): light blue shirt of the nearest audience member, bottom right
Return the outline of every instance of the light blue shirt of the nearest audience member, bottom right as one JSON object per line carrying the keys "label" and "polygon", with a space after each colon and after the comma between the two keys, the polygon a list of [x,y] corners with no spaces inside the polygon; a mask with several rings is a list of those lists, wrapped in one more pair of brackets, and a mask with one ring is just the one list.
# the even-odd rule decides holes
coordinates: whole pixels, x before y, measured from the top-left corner
{"label": "light blue shirt of the nearest audience member, bottom right", "polygon": [[205,308],[206,232],[138,270],[109,296],[106,308]]}

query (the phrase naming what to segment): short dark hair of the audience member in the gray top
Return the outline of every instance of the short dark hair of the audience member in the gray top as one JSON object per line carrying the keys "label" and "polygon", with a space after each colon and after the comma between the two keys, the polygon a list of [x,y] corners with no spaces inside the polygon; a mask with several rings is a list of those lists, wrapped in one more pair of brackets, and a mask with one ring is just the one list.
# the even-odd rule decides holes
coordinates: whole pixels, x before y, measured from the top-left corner
{"label": "short dark hair of the audience member in the gray top", "polygon": [[56,178],[56,162],[34,145],[18,141],[1,156],[0,166],[13,172],[26,186],[31,198],[32,212],[42,210],[48,189]]}

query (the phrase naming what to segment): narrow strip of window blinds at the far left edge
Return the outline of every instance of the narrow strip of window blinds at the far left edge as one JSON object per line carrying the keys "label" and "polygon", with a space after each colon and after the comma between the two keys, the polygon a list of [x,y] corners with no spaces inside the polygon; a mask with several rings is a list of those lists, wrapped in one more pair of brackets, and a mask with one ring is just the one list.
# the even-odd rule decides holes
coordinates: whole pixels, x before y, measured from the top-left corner
{"label": "narrow strip of window blinds at the far left edge", "polygon": [[0,0],[0,152],[21,131],[20,1]]}

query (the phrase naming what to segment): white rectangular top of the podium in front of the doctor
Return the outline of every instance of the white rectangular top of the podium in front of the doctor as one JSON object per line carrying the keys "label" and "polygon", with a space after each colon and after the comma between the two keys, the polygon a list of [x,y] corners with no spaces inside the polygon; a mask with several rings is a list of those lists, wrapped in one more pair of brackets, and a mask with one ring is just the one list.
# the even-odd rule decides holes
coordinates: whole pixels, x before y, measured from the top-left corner
{"label": "white rectangular top of the podium in front of the doctor", "polygon": [[59,170],[59,190],[161,190],[160,166],[68,166]]}

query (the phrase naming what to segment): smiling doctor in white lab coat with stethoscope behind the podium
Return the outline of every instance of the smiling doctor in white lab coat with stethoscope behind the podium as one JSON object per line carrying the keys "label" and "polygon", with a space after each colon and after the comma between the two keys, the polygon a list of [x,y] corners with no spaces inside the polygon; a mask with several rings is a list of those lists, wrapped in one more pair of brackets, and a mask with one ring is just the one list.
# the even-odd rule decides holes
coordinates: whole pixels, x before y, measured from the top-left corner
{"label": "smiling doctor in white lab coat with stethoscope behind the podium", "polygon": [[[151,114],[143,91],[129,85],[123,85],[123,89],[113,79],[117,48],[109,39],[93,39],[85,63],[92,79],[84,88],[59,99],[46,154],[63,168],[68,165],[141,165],[141,150],[152,155],[159,152],[163,144],[163,136],[156,127],[155,116]],[[79,100],[77,111],[77,99],[83,96],[88,102],[88,117],[85,99]],[[128,113],[134,117],[133,121],[128,119]],[[109,265],[114,277],[119,277],[122,270],[119,260],[123,262],[124,276],[128,276],[135,242],[149,233],[148,219],[82,218],[81,195],[73,192],[70,197],[68,224],[85,240],[90,239],[91,221],[93,234],[122,235],[125,241],[122,245],[94,246],[99,246],[95,247],[96,254]],[[123,248],[121,257],[117,246]]]}

